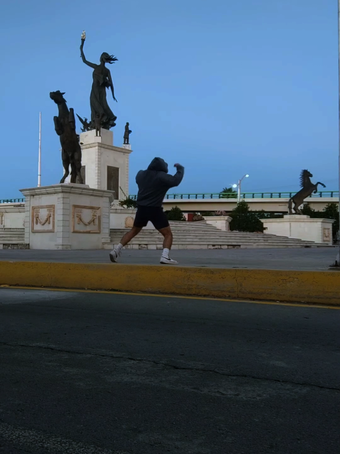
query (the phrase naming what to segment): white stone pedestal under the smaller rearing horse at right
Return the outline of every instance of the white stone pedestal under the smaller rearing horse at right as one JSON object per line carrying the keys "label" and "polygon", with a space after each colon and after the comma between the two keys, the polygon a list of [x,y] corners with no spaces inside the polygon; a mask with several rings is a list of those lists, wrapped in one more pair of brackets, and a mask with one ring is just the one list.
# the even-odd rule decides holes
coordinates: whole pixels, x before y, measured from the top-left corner
{"label": "white stone pedestal under the smaller rearing horse at right", "polygon": [[264,233],[282,237],[298,238],[331,246],[333,219],[318,219],[298,214],[286,215],[283,219],[261,219]]}

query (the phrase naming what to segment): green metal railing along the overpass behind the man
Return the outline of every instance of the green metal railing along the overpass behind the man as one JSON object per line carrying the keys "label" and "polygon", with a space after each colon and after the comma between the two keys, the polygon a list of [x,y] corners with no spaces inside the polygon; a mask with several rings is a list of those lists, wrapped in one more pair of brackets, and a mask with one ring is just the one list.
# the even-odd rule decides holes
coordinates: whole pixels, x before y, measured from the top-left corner
{"label": "green metal railing along the overpass behind the man", "polygon": [[[296,192],[241,192],[241,200],[251,198],[291,198]],[[136,200],[136,195],[130,196]],[[200,199],[237,199],[236,192],[218,192],[218,193],[204,193],[204,194],[166,194],[165,200],[200,200]],[[339,198],[339,191],[320,191],[312,194],[311,197],[330,197]]]}

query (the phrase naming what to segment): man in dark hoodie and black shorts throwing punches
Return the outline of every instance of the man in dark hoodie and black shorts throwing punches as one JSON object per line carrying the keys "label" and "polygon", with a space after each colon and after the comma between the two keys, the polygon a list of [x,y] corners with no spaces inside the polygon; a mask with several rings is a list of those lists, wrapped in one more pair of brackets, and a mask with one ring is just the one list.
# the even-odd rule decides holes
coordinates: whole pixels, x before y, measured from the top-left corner
{"label": "man in dark hoodie and black shorts throwing punches", "polygon": [[118,246],[111,251],[111,262],[117,262],[123,247],[136,237],[150,221],[164,237],[160,263],[177,265],[178,262],[169,257],[172,246],[172,232],[162,208],[165,194],[170,188],[178,186],[183,179],[184,167],[180,164],[175,164],[174,167],[177,169],[175,175],[168,175],[168,164],[164,159],[154,158],[147,170],[140,170],[137,173],[138,195],[135,221],[130,232],[127,232]]}

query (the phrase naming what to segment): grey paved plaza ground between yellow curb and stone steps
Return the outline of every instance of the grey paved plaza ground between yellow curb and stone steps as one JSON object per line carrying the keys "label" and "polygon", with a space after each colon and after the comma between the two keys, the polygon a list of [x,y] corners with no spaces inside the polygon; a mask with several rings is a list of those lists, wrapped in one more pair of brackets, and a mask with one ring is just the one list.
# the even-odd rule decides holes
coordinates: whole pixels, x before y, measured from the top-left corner
{"label": "grey paved plaza ground between yellow curb and stone steps", "polygon": [[[0,250],[0,260],[39,262],[111,263],[109,252],[46,251],[29,249]],[[215,268],[258,268],[274,270],[327,270],[337,253],[335,247],[282,249],[208,249],[174,250],[171,257],[181,266],[209,266]],[[124,250],[120,263],[159,265],[161,251]],[[117,266],[112,264],[112,266]]]}

